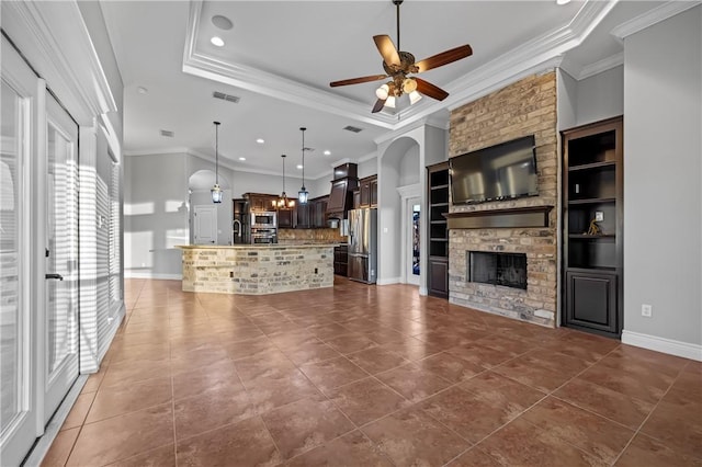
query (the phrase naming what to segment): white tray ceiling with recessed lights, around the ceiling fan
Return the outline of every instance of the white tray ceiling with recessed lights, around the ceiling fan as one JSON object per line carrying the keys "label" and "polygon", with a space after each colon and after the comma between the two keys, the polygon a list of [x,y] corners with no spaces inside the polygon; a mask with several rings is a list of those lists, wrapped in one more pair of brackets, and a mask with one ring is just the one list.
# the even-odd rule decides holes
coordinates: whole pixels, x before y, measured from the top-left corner
{"label": "white tray ceiling with recessed lights, around the ceiling fan", "polygon": [[[469,44],[474,54],[422,73],[451,93],[445,101],[424,98],[411,107],[400,101],[396,114],[371,114],[378,82],[333,89],[329,82],[383,72],[372,37],[387,34],[397,42],[390,0],[101,1],[125,86],[125,153],[189,150],[214,159],[212,122],[219,121],[220,162],[279,174],[286,153],[288,175],[299,176],[294,166],[302,160],[299,127],[306,126],[305,146],[315,149],[305,153],[310,179],[327,175],[338,161],[373,153],[389,132],[421,118],[445,122],[446,109],[563,54],[571,75],[587,75],[595,69],[588,66],[621,54],[610,34],[614,26],[659,4],[406,0],[403,50],[420,60]],[[215,14],[234,27],[218,30]],[[213,35],[225,46],[213,46]],[[240,101],[214,99],[214,91]],[[347,125],[363,130],[350,133]]]}

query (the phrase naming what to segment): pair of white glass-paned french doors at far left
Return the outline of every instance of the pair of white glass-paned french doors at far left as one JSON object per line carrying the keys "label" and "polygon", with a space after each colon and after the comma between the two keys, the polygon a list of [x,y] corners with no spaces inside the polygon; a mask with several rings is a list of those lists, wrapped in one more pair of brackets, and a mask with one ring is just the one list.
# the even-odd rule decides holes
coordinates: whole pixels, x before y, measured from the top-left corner
{"label": "pair of white glass-paned french doors at far left", "polygon": [[5,41],[0,141],[0,465],[78,377],[78,128]]}

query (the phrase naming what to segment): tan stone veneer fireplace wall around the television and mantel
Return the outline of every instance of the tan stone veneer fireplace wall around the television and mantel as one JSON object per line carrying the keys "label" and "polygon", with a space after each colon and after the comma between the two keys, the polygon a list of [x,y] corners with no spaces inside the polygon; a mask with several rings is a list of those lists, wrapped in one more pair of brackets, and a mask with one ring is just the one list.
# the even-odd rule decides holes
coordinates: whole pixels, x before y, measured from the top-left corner
{"label": "tan stone veneer fireplace wall around the television and mantel", "polygon": [[[534,135],[539,196],[450,206],[451,213],[554,206],[547,228],[452,229],[449,300],[514,319],[554,327],[557,309],[556,73],[533,75],[451,113],[449,157]],[[467,282],[467,251],[526,254],[526,291]]]}

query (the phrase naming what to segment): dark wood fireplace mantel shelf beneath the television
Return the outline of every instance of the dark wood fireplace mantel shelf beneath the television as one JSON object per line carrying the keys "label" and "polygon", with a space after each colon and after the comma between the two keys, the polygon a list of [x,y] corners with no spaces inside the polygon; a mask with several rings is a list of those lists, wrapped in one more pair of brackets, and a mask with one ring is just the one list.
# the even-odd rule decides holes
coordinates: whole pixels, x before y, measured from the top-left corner
{"label": "dark wood fireplace mantel shelf beneath the television", "polygon": [[509,207],[503,209],[446,213],[450,229],[544,228],[553,206]]}

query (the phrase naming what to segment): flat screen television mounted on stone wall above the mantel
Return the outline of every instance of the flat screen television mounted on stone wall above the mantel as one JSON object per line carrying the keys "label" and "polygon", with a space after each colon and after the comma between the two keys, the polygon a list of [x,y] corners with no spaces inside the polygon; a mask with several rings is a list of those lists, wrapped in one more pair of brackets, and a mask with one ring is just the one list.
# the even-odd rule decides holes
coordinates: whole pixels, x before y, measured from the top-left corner
{"label": "flat screen television mounted on stone wall above the mantel", "polygon": [[534,135],[449,159],[453,204],[539,194]]}

